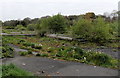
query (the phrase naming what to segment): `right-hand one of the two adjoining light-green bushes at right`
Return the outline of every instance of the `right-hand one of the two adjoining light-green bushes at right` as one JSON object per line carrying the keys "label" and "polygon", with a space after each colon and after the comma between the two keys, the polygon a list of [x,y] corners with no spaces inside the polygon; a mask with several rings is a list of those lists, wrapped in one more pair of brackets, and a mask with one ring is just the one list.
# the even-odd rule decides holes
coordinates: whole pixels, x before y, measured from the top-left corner
{"label": "right-hand one of the two adjoining light-green bushes at right", "polygon": [[91,38],[92,41],[105,42],[112,38],[113,35],[110,33],[109,25],[102,18],[98,18],[94,22],[94,30]]}

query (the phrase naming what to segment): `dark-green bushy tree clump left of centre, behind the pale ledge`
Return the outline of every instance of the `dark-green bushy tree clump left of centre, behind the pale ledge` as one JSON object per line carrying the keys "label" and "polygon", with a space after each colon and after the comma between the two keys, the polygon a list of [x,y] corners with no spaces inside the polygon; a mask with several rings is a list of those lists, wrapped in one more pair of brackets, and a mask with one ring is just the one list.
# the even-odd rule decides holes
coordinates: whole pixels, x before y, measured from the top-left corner
{"label": "dark-green bushy tree clump left of centre, behind the pale ledge", "polygon": [[63,33],[65,32],[66,19],[58,14],[53,17],[43,18],[37,24],[38,33]]}

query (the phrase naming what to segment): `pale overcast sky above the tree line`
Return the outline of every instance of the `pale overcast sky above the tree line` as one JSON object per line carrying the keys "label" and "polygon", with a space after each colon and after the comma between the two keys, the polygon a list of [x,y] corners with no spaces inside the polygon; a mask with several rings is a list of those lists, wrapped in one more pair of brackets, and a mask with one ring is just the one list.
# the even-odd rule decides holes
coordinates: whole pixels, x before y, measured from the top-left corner
{"label": "pale overcast sky above the tree line", "polygon": [[119,0],[0,0],[0,20],[40,18],[46,15],[103,14],[118,10]]}

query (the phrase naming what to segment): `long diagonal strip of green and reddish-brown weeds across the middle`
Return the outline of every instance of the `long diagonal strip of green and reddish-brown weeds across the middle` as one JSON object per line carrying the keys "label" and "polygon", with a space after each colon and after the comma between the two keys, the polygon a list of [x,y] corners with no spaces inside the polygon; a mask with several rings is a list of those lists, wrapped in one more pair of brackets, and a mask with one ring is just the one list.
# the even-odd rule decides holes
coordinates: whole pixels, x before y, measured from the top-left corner
{"label": "long diagonal strip of green and reddish-brown weeds across the middle", "polygon": [[[118,68],[118,60],[101,52],[84,51],[80,44],[76,42],[36,37],[8,37],[9,42],[29,51],[37,51],[36,56],[51,57],[68,61],[78,61],[86,64],[103,66],[108,68]],[[13,40],[15,40],[13,42]],[[89,44],[90,45],[90,44]],[[76,46],[76,47],[74,47]],[[26,56],[31,52],[20,52]]]}

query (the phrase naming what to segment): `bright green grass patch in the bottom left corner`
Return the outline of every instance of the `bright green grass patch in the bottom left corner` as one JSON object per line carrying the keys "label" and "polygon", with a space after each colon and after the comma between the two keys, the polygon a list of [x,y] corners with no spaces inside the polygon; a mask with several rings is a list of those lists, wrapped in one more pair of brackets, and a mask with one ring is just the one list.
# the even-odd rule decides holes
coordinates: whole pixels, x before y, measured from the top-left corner
{"label": "bright green grass patch in the bottom left corner", "polygon": [[33,74],[18,68],[14,64],[9,64],[2,65],[2,77],[4,78],[6,76],[12,78],[12,76],[33,76]]}

